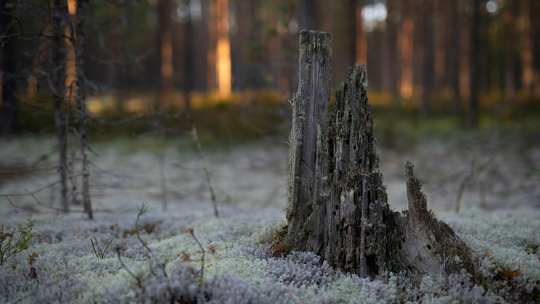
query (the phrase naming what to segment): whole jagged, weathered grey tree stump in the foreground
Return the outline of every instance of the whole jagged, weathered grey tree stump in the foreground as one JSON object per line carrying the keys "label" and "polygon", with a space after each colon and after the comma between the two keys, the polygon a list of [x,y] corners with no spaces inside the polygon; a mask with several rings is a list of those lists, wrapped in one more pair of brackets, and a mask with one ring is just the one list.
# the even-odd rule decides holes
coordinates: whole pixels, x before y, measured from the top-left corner
{"label": "whole jagged, weathered grey tree stump in the foreground", "polygon": [[[427,210],[422,183],[406,164],[409,210],[393,212],[379,170],[367,98],[366,65],[349,67],[330,97],[332,35],[300,32],[300,85],[293,97],[285,250],[312,251],[329,265],[364,277],[385,271],[448,275],[474,272],[453,229]],[[460,256],[456,265],[450,257]],[[470,264],[470,265],[469,265]]]}

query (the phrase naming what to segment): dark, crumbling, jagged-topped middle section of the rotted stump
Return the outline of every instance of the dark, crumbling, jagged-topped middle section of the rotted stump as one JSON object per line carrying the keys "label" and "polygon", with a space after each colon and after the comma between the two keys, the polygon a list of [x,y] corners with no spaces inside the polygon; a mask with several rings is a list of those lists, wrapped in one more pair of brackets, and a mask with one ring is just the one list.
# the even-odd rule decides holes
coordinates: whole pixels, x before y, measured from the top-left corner
{"label": "dark, crumbling, jagged-topped middle section of the rotted stump", "polygon": [[347,81],[336,92],[328,141],[332,212],[328,214],[326,259],[330,265],[362,276],[384,268],[384,226],[390,213],[367,87],[366,65],[349,67]]}

